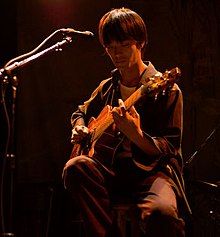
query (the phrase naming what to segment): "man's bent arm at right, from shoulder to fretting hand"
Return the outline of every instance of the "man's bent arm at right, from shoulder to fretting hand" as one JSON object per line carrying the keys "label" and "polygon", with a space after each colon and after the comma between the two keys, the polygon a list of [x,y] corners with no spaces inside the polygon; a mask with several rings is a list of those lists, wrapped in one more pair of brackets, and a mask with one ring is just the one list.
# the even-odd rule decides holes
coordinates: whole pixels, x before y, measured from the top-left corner
{"label": "man's bent arm at right, from shoulder to fretting hand", "polygon": [[[169,114],[169,119],[157,119],[157,124],[161,128],[159,132],[150,136],[147,131],[142,129],[146,118],[140,118],[134,108],[125,111],[123,106],[120,110],[113,109],[113,118],[116,126],[121,130],[139,149],[135,149],[139,156],[146,154],[149,159],[158,159],[158,157],[167,154],[177,154],[180,152],[180,143],[182,136],[182,94],[175,86],[169,96],[164,111]],[[166,116],[168,117],[168,116]],[[141,124],[142,120],[142,124]],[[145,126],[146,127],[146,126]],[[136,153],[137,153],[136,152]]]}

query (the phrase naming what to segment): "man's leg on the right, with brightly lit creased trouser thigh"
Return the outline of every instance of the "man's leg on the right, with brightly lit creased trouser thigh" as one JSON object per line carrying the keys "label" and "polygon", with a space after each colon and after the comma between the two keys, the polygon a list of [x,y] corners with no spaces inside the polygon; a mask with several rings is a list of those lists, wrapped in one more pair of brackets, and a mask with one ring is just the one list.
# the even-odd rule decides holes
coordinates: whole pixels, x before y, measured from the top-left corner
{"label": "man's leg on the right, with brightly lit creased trouser thigh", "polygon": [[176,195],[165,179],[157,178],[137,206],[147,237],[185,236],[184,221],[178,218]]}

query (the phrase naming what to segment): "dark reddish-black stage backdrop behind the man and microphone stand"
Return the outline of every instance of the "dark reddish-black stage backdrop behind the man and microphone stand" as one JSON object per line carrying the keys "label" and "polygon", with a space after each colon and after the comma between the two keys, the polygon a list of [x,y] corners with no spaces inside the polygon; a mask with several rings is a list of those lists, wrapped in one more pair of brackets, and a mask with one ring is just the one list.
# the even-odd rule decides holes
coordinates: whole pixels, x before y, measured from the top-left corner
{"label": "dark reddish-black stage backdrop behind the man and microphone stand", "polygon": [[[219,188],[204,182],[220,181],[220,1],[2,0],[0,5],[0,68],[33,50],[57,29],[72,27],[95,34],[94,39],[74,36],[63,51],[47,54],[16,72],[12,162],[4,156],[8,126],[1,101],[1,174],[5,166],[1,218],[4,214],[5,231],[18,237],[79,236],[74,222],[78,210],[61,178],[71,151],[70,116],[113,69],[98,42],[99,19],[111,8],[127,6],[146,22],[149,45],[145,59],[162,72],[175,66],[182,71],[178,84],[184,95],[184,161],[196,152],[184,172],[195,219],[190,236],[217,236]],[[62,39],[56,35],[44,48]],[[11,83],[6,104],[10,116]]]}

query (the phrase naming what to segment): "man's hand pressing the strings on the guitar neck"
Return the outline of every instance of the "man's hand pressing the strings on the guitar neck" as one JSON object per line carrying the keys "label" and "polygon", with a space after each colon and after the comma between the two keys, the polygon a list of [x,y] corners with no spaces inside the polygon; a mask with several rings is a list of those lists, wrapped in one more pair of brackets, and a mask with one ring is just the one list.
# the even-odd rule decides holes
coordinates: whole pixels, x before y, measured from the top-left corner
{"label": "man's hand pressing the strings on the guitar neck", "polygon": [[119,107],[113,108],[112,116],[116,127],[130,140],[135,140],[137,135],[142,135],[140,116],[134,106],[126,110],[124,102],[119,99]]}

